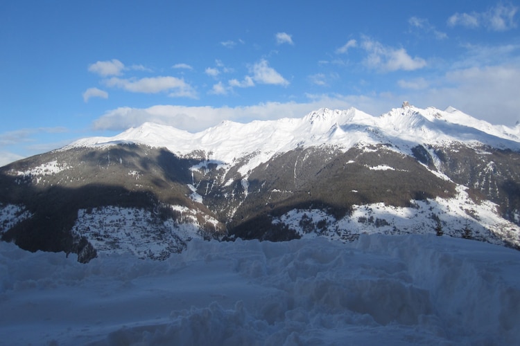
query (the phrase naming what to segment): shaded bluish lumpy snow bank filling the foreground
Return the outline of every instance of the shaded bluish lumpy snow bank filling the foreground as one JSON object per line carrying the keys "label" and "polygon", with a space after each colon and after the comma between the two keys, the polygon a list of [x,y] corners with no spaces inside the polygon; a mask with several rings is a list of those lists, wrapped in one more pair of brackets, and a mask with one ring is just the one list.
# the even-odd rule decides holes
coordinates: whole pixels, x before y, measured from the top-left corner
{"label": "shaded bluish lumpy snow bank filling the foreground", "polygon": [[[35,265],[37,264],[37,265]],[[520,253],[434,235],[204,242],[165,261],[0,242],[8,345],[513,345]]]}

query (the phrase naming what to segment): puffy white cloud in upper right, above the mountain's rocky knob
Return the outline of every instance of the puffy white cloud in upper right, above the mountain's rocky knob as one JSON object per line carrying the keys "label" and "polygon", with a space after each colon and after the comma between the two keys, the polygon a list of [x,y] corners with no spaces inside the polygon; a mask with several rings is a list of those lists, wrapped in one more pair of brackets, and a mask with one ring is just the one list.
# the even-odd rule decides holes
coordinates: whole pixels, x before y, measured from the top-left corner
{"label": "puffy white cloud in upper right, above the mountain's rocky knob", "polygon": [[388,71],[413,71],[426,66],[426,61],[420,57],[410,57],[404,48],[392,48],[365,38],[361,46],[368,53],[365,65],[371,69]]}

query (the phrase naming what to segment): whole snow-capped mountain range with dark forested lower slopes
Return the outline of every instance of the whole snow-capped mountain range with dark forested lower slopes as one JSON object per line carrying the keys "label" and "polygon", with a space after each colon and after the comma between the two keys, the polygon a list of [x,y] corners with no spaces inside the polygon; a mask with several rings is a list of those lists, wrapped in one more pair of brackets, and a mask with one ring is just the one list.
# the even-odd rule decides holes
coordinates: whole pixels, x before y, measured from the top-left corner
{"label": "whole snow-capped mountain range with dark forested lower slopes", "polygon": [[196,134],[147,122],[0,173],[2,239],[84,260],[98,251],[164,258],[193,237],[435,228],[520,246],[520,126],[452,107],[319,109]]}

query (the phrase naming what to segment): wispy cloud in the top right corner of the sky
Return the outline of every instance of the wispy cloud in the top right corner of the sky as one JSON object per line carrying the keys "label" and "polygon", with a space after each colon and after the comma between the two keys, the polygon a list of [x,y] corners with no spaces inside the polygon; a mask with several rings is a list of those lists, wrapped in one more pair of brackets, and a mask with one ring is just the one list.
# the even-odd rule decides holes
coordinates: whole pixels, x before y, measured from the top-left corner
{"label": "wispy cloud in the top right corner of the sky", "polygon": [[484,26],[488,30],[505,31],[517,27],[514,15],[518,7],[512,4],[499,3],[485,12],[455,13],[448,19],[449,26],[465,26],[478,28]]}

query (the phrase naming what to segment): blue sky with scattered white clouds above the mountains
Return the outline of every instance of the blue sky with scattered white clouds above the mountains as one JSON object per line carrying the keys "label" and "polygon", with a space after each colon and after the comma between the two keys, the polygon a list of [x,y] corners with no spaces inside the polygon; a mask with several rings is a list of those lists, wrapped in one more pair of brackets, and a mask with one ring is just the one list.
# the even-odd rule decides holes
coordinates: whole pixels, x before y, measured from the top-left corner
{"label": "blue sky with scattered white clouds above the mountains", "polygon": [[0,165],[145,121],[520,120],[519,1],[1,1]]}

